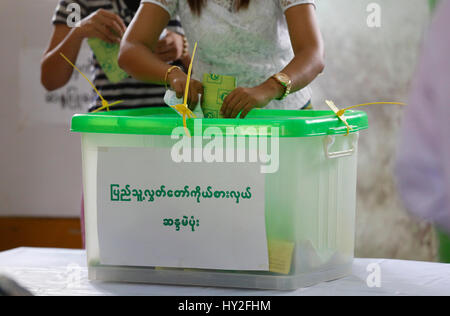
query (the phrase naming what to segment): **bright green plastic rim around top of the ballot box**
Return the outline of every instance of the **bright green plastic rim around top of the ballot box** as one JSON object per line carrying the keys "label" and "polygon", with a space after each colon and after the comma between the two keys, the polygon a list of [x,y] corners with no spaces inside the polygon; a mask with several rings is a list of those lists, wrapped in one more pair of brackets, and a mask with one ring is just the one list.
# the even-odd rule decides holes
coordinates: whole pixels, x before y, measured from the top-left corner
{"label": "bright green plastic rim around top of the ballot box", "polygon": [[[367,114],[346,111],[345,117],[352,127],[351,133],[369,127]],[[342,135],[347,127],[332,111],[254,109],[245,119],[187,119],[187,127],[194,134],[194,122],[201,121],[202,133],[219,128],[224,136],[263,136],[271,128],[279,128],[279,137],[311,137]],[[183,127],[183,119],[171,108],[141,108],[100,113],[76,114],[71,131],[75,133],[172,135]],[[230,128],[231,127],[231,128]],[[239,127],[238,129],[236,127]],[[265,129],[264,129],[265,128]]]}

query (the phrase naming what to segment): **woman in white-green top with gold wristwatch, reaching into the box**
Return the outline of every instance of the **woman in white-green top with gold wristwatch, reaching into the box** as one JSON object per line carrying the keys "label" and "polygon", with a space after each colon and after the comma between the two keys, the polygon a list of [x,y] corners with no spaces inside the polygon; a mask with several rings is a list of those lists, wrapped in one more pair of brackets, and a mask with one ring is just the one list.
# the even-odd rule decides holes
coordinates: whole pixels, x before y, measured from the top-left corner
{"label": "woman in white-green top with gold wristwatch, reaching into the box", "polygon": [[245,118],[253,108],[308,108],[309,84],[324,69],[314,0],[143,0],[121,42],[119,65],[181,97],[187,76],[149,49],[174,16],[189,42],[198,42],[189,106],[203,94],[202,75],[212,73],[237,81],[221,107],[225,118]]}

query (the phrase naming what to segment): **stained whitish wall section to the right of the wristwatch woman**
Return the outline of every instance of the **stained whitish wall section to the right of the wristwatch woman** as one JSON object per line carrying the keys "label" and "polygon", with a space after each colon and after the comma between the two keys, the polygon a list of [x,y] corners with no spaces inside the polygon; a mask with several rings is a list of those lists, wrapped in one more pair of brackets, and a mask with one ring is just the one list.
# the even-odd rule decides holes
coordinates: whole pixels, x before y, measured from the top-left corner
{"label": "stained whitish wall section to the right of the wristwatch woman", "polygon": [[[339,107],[407,102],[430,19],[428,1],[318,2],[326,70],[313,84],[313,103],[322,108],[325,99]],[[381,6],[381,28],[367,26],[369,3]],[[369,115],[370,129],[362,133],[359,146],[356,255],[435,260],[432,228],[406,213],[395,187],[393,167],[403,108],[362,109]]]}

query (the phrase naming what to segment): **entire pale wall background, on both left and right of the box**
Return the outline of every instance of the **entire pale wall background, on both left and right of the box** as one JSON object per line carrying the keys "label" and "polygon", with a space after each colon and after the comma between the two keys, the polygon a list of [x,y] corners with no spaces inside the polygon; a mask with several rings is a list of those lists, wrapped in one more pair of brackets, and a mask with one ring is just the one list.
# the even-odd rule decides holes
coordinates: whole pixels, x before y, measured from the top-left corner
{"label": "entire pale wall background, on both left and right of the box", "polygon": [[[406,101],[429,22],[427,1],[317,2],[327,68],[313,85],[313,103],[322,108],[325,99],[339,106]],[[372,2],[382,8],[381,28],[367,26],[366,8]],[[19,106],[24,99],[33,100],[33,91],[40,89],[36,80],[36,86],[19,90],[21,53],[46,48],[56,3],[0,2],[0,216],[74,217],[80,212],[80,139],[69,133],[72,112],[46,121],[44,115],[41,120],[35,115],[44,111],[39,102]],[[37,72],[39,67],[30,75]],[[392,176],[402,109],[386,105],[365,110],[371,127],[359,148],[356,255],[435,260],[431,227],[405,212]]]}

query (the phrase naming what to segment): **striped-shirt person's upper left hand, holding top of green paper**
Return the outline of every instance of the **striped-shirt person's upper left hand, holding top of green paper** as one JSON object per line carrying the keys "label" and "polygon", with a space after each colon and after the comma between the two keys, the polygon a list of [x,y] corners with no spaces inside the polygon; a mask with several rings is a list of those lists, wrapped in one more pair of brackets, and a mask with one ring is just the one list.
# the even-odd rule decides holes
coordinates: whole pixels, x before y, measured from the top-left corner
{"label": "striped-shirt person's upper left hand, holding top of green paper", "polygon": [[76,36],[84,38],[99,38],[108,43],[120,43],[126,26],[122,19],[112,12],[99,9],[80,21],[74,28]]}

